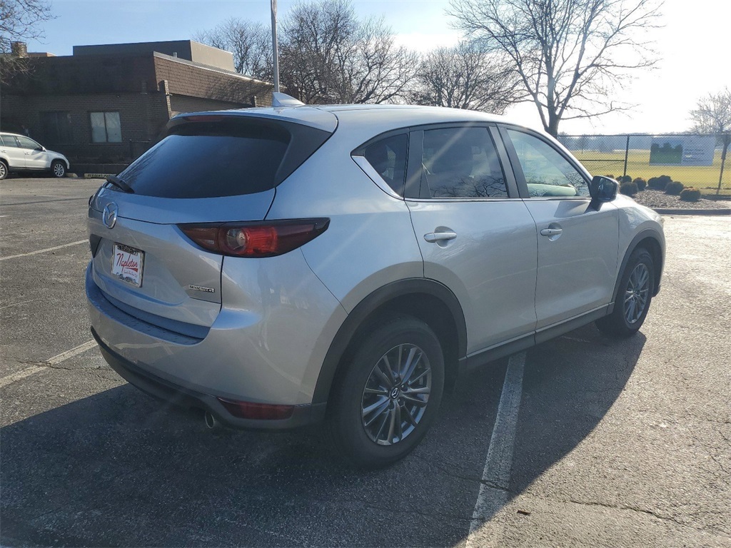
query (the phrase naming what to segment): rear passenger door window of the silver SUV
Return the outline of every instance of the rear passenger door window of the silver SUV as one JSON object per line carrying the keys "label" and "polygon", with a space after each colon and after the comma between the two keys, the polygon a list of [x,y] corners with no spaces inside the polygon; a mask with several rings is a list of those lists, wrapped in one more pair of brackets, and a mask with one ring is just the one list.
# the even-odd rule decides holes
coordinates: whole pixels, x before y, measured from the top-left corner
{"label": "rear passenger door window of the silver SUV", "polygon": [[424,132],[423,177],[432,198],[504,198],[505,177],[487,128]]}

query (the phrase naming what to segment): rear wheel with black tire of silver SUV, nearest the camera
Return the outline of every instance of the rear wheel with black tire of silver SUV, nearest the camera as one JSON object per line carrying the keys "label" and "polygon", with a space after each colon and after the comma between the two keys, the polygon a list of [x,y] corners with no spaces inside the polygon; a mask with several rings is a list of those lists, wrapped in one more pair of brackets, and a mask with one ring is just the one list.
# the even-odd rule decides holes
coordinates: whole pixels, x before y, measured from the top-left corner
{"label": "rear wheel with black tire of silver SUV, nearest the camera", "polygon": [[382,321],[346,353],[341,369],[325,424],[336,454],[382,468],[412,452],[444,390],[444,355],[431,328],[411,316]]}

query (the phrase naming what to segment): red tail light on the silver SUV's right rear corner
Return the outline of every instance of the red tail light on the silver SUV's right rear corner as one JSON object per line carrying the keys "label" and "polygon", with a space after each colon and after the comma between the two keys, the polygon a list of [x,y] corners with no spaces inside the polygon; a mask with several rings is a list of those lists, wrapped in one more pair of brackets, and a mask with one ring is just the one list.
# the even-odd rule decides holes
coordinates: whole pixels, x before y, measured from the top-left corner
{"label": "red tail light on the silver SUV's right rear corner", "polygon": [[328,218],[257,223],[179,224],[178,228],[202,248],[236,257],[285,254],[327,230]]}

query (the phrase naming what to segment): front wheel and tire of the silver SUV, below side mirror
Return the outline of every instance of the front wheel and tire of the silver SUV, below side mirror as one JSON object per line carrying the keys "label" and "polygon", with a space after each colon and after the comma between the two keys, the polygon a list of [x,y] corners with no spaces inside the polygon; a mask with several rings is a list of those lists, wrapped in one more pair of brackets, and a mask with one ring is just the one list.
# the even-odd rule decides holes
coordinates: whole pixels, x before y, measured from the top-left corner
{"label": "front wheel and tire of the silver SUV, below side mirror", "polygon": [[645,248],[637,248],[629,256],[622,272],[614,310],[596,320],[596,327],[607,335],[630,337],[642,327],[655,289],[655,266]]}

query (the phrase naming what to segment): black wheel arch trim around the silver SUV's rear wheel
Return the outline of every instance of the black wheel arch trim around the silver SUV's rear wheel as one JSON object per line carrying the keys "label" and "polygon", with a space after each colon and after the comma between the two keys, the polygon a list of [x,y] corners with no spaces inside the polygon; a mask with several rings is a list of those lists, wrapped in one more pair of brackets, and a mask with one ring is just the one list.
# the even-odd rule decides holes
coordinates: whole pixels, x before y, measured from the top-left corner
{"label": "black wheel arch trim around the silver SUV's rear wheel", "polygon": [[343,357],[369,326],[389,313],[414,316],[431,327],[444,350],[445,385],[455,381],[459,359],[467,351],[467,327],[462,307],[442,283],[410,278],[376,289],[349,313],[322,362],[312,403],[327,402]]}

